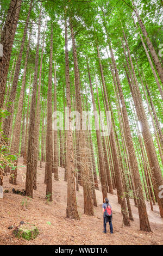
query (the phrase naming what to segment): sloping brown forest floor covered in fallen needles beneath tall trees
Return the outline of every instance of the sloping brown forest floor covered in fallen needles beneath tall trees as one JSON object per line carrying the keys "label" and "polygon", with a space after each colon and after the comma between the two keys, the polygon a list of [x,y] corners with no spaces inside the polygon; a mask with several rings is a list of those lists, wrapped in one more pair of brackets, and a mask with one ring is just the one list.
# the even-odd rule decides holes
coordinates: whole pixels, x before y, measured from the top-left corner
{"label": "sloping brown forest floor covered in fallen needles beneath tall trees", "polygon": [[[24,188],[26,179],[26,167],[18,160],[17,185],[9,184],[9,177],[4,177],[4,190],[11,191],[14,188]],[[46,185],[44,184],[45,163],[42,168],[37,167],[37,190],[34,198],[29,199],[12,192],[4,193],[0,199],[0,245],[163,245],[163,220],[159,217],[158,205],[154,205],[151,211],[147,202],[147,211],[152,232],[140,231],[138,210],[134,206],[134,200],[130,200],[134,222],[131,227],[123,227],[120,205],[117,203],[116,192],[108,194],[112,205],[112,224],[114,234],[103,233],[102,216],[102,192],[96,190],[97,204],[95,216],[83,214],[83,188],[79,186],[77,191],[77,204],[80,221],[66,218],[67,182],[64,181],[64,168],[59,167],[59,181],[53,180],[53,202],[45,199]],[[26,199],[27,198],[27,199]],[[26,203],[27,209],[22,206]],[[18,239],[12,234],[13,229],[21,221],[35,224],[39,229],[39,236],[34,240]]]}

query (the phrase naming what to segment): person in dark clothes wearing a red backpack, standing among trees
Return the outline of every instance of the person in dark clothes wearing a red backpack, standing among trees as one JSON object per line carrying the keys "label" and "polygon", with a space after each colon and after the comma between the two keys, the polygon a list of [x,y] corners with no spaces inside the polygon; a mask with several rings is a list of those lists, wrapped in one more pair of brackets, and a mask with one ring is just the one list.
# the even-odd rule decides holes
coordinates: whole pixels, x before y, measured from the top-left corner
{"label": "person in dark clothes wearing a red backpack, standing among trees", "polygon": [[106,223],[109,222],[110,226],[110,234],[113,234],[113,229],[112,229],[112,210],[111,210],[111,205],[109,204],[109,199],[105,198],[104,203],[103,203],[103,217],[104,217],[104,233],[106,233]]}

